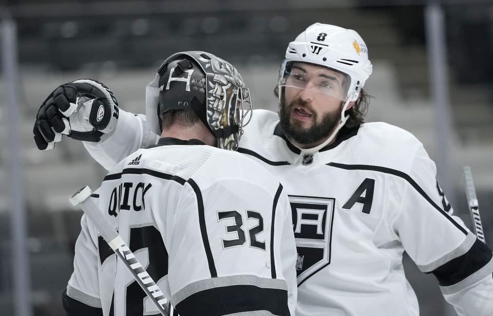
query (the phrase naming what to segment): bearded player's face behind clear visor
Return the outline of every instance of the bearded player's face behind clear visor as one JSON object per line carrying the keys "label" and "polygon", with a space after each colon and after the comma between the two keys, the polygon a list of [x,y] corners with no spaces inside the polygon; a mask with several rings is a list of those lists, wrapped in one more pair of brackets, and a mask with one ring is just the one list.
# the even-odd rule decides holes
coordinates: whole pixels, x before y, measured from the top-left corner
{"label": "bearded player's face behind clear visor", "polygon": [[299,144],[328,138],[344,106],[344,80],[337,71],[294,63],[283,87],[279,110],[286,135]]}

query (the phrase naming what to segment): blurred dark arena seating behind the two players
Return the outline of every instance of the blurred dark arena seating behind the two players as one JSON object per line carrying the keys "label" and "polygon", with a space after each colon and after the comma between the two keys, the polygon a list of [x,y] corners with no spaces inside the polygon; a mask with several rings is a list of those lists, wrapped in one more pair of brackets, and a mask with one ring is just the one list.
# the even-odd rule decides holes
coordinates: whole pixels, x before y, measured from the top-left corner
{"label": "blurred dark arena seating behind the two players", "polygon": [[[82,215],[68,198],[82,185],[97,188],[106,174],[79,141],[65,138],[52,151],[37,150],[34,118],[55,87],[97,79],[121,108],[143,113],[145,85],[163,59],[205,50],[237,66],[256,108],[275,110],[272,90],[287,45],[315,22],[362,35],[373,64],[367,121],[403,127],[424,143],[455,214],[469,228],[462,166],[471,166],[486,243],[493,246],[491,0],[3,0],[0,18],[3,315],[64,314],[61,294]],[[421,314],[456,315],[434,277],[404,261]],[[16,296],[20,289],[24,294]]]}

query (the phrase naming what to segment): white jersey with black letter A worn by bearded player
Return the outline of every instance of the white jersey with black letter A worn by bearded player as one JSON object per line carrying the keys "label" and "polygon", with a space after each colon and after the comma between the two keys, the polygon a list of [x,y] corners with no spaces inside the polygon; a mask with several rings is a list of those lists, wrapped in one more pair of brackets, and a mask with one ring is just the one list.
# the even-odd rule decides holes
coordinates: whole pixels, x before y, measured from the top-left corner
{"label": "white jersey with black letter A worn by bearded player", "polygon": [[[120,128],[140,141],[126,150],[152,142],[139,118],[127,119]],[[123,141],[118,128],[108,141]],[[107,141],[86,147],[103,165],[122,154],[108,153]],[[451,215],[435,165],[410,133],[365,123],[307,155],[286,139],[277,114],[255,110],[238,151],[263,162],[289,194],[298,316],[419,315],[404,251],[438,278],[459,315],[493,315],[492,253]]]}

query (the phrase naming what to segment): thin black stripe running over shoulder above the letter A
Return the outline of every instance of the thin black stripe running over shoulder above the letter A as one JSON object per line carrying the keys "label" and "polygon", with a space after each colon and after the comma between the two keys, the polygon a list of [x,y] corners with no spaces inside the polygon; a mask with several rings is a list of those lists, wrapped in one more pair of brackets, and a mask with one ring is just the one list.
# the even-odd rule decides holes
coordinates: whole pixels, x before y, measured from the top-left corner
{"label": "thin black stripe running over shoulder above the letter A", "polygon": [[345,170],[370,170],[370,171],[383,172],[403,178],[404,180],[409,182],[409,184],[411,184],[412,187],[416,191],[418,191],[418,193],[421,194],[421,196],[423,196],[425,200],[427,200],[433,208],[435,208],[443,216],[445,216],[455,227],[457,227],[465,235],[468,234],[467,230],[464,229],[464,227],[462,227],[457,221],[453,220],[452,217],[447,212],[442,210],[435,202],[433,202],[433,200],[426,194],[426,192],[423,189],[421,189],[418,183],[416,183],[409,175],[405,174],[402,171],[376,166],[376,165],[365,165],[365,164],[343,164],[343,163],[330,162],[327,163],[327,165],[335,168],[345,169]]}

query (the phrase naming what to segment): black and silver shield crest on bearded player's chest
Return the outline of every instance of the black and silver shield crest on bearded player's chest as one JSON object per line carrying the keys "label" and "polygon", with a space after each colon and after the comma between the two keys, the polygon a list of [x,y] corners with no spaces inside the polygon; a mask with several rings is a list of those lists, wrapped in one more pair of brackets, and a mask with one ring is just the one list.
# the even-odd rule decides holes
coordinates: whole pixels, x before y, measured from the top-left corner
{"label": "black and silver shield crest on bearded player's chest", "polygon": [[294,237],[298,251],[298,285],[330,264],[330,238],[334,219],[334,199],[290,195]]}

